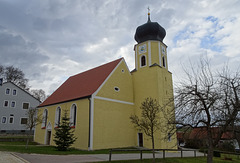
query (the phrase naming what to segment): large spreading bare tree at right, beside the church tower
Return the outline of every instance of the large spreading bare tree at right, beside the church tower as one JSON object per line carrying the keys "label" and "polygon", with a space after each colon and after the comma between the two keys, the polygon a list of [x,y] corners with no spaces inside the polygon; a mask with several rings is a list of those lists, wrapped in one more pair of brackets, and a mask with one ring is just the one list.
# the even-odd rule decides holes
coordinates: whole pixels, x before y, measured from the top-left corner
{"label": "large spreading bare tree at right, beside the church tower", "polygon": [[[209,61],[202,59],[199,69],[185,71],[186,80],[175,89],[176,120],[181,126],[204,127],[207,132],[207,162],[212,163],[213,148],[237,119],[239,76],[212,73]],[[233,84],[234,83],[234,84]],[[236,90],[235,90],[236,88]],[[237,93],[238,92],[238,93]],[[218,127],[218,130],[213,130]]]}

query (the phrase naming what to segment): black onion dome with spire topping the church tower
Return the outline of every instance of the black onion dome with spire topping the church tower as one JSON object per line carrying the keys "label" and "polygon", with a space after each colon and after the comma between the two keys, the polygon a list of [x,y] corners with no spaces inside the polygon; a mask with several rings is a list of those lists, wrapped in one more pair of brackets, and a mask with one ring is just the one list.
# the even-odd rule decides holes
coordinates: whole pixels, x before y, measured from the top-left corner
{"label": "black onion dome with spire topping the church tower", "polygon": [[134,38],[138,43],[147,40],[157,40],[162,42],[165,36],[165,29],[157,22],[151,22],[150,16],[148,15],[148,22],[137,27]]}

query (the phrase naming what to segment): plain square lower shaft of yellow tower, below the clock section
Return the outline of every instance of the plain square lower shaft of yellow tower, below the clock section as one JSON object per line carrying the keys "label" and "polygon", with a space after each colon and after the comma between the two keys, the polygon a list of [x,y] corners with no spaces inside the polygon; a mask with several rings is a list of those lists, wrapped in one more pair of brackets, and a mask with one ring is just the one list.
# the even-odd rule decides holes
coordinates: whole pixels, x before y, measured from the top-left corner
{"label": "plain square lower shaft of yellow tower, below the clock section", "polygon": [[[147,97],[157,99],[161,106],[165,105],[173,98],[173,87],[171,73],[165,68],[158,66],[144,67],[133,73],[134,94],[135,94],[135,114],[141,115],[141,103]],[[173,103],[168,107],[174,112]],[[168,112],[169,113],[169,112]],[[165,112],[167,114],[167,112]],[[168,125],[165,120],[165,115],[160,113],[162,125]],[[155,148],[176,148],[176,134],[171,136],[171,141],[168,141],[167,130],[159,130],[155,134]],[[144,132],[142,132],[144,133]],[[137,135],[136,135],[137,137]],[[144,134],[143,145],[146,148],[152,148],[150,137]]]}

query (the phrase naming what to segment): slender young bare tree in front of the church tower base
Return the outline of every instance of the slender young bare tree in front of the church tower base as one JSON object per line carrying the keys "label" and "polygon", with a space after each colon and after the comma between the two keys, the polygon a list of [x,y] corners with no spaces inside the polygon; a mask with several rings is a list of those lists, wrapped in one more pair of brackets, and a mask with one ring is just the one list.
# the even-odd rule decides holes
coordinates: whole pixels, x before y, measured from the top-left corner
{"label": "slender young bare tree in front of the church tower base", "polygon": [[153,161],[155,162],[154,133],[160,127],[160,105],[156,99],[148,97],[142,102],[140,109],[141,118],[137,115],[131,115],[131,122],[137,129],[143,130],[144,133],[152,140]]}

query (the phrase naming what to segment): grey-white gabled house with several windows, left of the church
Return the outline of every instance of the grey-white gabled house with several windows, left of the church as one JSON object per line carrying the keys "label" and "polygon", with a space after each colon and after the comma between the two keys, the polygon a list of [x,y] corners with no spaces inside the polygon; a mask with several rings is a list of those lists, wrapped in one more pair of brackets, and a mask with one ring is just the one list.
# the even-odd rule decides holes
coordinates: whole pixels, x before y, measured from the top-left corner
{"label": "grey-white gabled house with several windows, left of the church", "polygon": [[26,133],[26,112],[40,101],[12,82],[0,83],[0,133]]}

